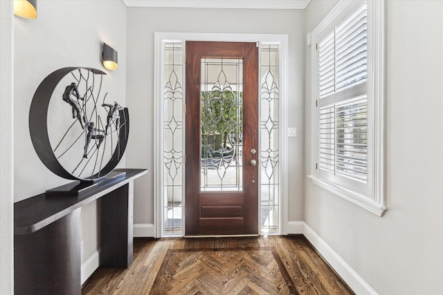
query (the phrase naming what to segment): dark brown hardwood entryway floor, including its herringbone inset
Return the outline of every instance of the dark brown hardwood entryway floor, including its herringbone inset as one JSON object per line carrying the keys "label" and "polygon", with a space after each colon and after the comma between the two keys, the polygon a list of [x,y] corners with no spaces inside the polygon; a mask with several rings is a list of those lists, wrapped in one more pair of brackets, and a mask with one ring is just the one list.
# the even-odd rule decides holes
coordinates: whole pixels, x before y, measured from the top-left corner
{"label": "dark brown hardwood entryway floor, including its herringbone inset", "polygon": [[[214,251],[212,251],[213,249]],[[248,250],[258,263],[260,260],[275,258],[277,263],[269,260],[271,261],[269,274],[275,274],[275,278],[271,278],[271,280],[275,280],[276,289],[272,289],[270,284],[264,283],[263,278],[256,275],[260,272],[268,272],[265,267],[247,262],[239,266],[240,263],[233,257],[235,256],[234,252],[241,250]],[[233,255],[230,255],[229,251],[233,251]],[[211,269],[204,270],[204,267],[201,266],[193,267],[186,272],[183,271],[180,278],[176,278],[174,283],[171,282],[173,278],[170,268],[173,267],[168,263],[171,262],[177,266],[177,263],[172,260],[181,259],[180,256],[172,257],[172,254],[183,253],[182,256],[188,260],[194,259],[183,264],[196,265],[197,258],[193,258],[192,255],[195,254],[194,256],[197,257],[197,252],[199,254],[204,252],[206,255],[206,258],[201,258],[201,260],[205,259],[206,261],[212,254],[213,256],[229,256],[230,260],[227,261],[235,260],[236,262],[232,263],[237,268],[251,270],[250,274],[242,272],[245,274],[245,278],[239,278],[239,272],[236,272],[235,276],[230,274],[228,278],[224,278],[221,287],[224,287],[224,290],[229,288],[226,294],[354,294],[350,287],[318,255],[304,236],[136,238],[134,239],[134,262],[132,265],[128,269],[97,269],[84,283],[82,294],[217,294],[218,292],[213,290],[217,288],[217,284],[220,285],[221,279],[216,277],[217,272],[211,274]],[[273,256],[270,255],[271,252]],[[266,254],[269,255],[266,256]],[[216,263],[206,264],[217,267]],[[266,262],[266,264],[268,263]],[[223,266],[226,268],[226,265]],[[199,272],[201,272],[201,276],[204,276],[203,280],[197,279],[197,276],[200,275]],[[251,273],[253,274],[251,275]],[[199,288],[199,284],[202,284],[199,282],[204,282],[206,287]],[[171,285],[168,285],[169,283]],[[179,283],[188,285],[188,287],[177,292],[177,288],[180,287]],[[270,289],[259,288],[264,285]]]}

